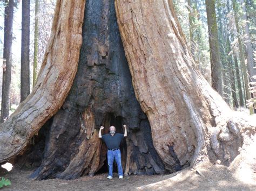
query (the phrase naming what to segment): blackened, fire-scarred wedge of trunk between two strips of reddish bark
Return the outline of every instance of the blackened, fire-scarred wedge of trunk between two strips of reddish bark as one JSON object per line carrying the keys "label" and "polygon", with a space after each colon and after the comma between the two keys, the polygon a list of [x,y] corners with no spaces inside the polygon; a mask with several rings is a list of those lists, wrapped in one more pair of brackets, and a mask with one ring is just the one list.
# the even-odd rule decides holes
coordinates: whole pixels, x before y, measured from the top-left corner
{"label": "blackened, fire-scarred wedge of trunk between two strips of reddish bark", "polygon": [[[40,166],[32,179],[75,179],[106,171],[100,125],[114,125],[123,140],[124,174],[161,174],[150,123],[140,108],[117,25],[114,1],[86,1],[78,71],[68,97],[51,118]],[[39,133],[40,134],[40,133]],[[36,149],[36,145],[34,146]]]}

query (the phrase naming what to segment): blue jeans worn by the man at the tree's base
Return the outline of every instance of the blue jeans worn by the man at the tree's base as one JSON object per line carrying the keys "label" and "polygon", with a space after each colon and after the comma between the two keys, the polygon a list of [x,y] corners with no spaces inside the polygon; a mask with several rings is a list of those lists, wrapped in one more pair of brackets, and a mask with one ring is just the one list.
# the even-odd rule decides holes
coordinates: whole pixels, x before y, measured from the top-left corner
{"label": "blue jeans worn by the man at the tree's base", "polygon": [[122,168],[122,161],[121,161],[121,151],[118,150],[107,150],[107,165],[109,166],[109,176],[113,177],[113,162],[116,160],[117,168],[118,168],[118,175],[123,176],[123,168]]}

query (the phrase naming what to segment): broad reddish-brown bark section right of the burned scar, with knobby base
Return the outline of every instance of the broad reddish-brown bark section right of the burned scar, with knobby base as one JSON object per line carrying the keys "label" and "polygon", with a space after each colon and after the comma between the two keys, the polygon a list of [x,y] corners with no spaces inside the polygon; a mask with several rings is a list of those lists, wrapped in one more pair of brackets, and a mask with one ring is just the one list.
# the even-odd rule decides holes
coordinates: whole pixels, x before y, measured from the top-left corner
{"label": "broad reddish-brown bark section right of the burned scar, with knobby base", "polygon": [[172,1],[115,3],[136,97],[166,169],[193,166],[205,155],[229,164],[242,144],[239,127],[252,124],[233,117],[194,68]]}

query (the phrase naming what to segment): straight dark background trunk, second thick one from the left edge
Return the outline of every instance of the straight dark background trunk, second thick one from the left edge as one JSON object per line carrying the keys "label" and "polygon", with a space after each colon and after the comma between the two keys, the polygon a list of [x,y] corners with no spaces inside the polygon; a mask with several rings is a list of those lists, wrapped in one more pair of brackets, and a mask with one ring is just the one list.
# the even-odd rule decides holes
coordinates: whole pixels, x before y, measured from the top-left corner
{"label": "straight dark background trunk, second thick one from the left edge", "polygon": [[30,35],[30,0],[22,1],[22,44],[21,44],[21,102],[30,93],[29,77],[29,35]]}

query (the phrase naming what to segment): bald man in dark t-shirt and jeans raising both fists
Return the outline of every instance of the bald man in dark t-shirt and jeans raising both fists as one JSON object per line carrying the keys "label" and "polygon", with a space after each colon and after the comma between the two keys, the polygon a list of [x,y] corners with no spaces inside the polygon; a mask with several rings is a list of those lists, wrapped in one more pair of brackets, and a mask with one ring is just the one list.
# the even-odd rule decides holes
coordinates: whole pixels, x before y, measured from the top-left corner
{"label": "bald man in dark t-shirt and jeans raising both fists", "polygon": [[110,126],[110,133],[102,136],[103,126],[99,129],[99,138],[106,143],[107,146],[107,165],[109,166],[109,175],[107,179],[113,178],[113,162],[116,160],[119,179],[123,179],[123,168],[121,161],[120,143],[124,137],[127,137],[126,125],[124,125],[124,134],[116,133],[116,128]]}

